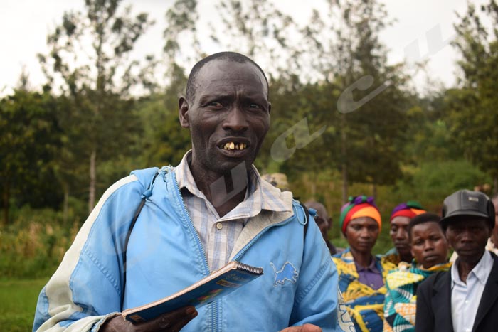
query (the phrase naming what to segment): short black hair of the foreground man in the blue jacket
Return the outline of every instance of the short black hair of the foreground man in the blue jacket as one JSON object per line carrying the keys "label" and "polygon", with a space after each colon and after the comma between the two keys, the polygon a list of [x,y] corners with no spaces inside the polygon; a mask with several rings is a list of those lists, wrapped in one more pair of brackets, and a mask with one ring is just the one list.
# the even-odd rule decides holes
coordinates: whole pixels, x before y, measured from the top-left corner
{"label": "short black hair of the foreground man in the blue jacket", "polygon": [[190,71],[189,74],[189,80],[187,80],[187,86],[186,86],[186,100],[188,102],[191,102],[194,100],[194,97],[196,95],[196,88],[197,88],[197,75],[201,68],[206,65],[206,63],[209,63],[210,61],[213,60],[228,60],[228,61],[233,61],[235,63],[250,63],[252,65],[255,65],[258,70],[263,74],[263,77],[265,77],[265,82],[266,82],[266,89],[267,89],[267,95],[270,97],[270,89],[268,85],[268,80],[266,78],[265,72],[263,72],[263,69],[258,65],[258,63],[255,63],[251,58],[248,58],[247,56],[236,53],[236,52],[220,52],[220,53],[214,53],[206,58],[203,58],[200,60],[198,63],[194,65],[192,70]]}

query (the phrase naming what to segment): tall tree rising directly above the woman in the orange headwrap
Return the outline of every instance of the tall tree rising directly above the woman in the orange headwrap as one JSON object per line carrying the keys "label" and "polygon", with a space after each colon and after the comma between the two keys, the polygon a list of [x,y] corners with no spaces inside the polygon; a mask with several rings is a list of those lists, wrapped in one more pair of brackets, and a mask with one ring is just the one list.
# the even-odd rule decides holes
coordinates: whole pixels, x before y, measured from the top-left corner
{"label": "tall tree rising directly above the woman in the orange headwrap", "polygon": [[[408,77],[402,65],[387,65],[386,48],[379,33],[388,24],[385,6],[376,0],[327,1],[328,11],[315,10],[303,29],[303,45],[314,55],[311,73],[335,88],[337,100],[329,112],[335,130],[329,144],[342,173],[342,196],[346,200],[351,182],[373,185],[395,183],[401,175],[402,155],[397,141],[406,127],[404,111],[410,108]],[[307,59],[307,58],[306,58]],[[337,94],[339,90],[339,95]],[[337,97],[336,97],[337,96]]]}

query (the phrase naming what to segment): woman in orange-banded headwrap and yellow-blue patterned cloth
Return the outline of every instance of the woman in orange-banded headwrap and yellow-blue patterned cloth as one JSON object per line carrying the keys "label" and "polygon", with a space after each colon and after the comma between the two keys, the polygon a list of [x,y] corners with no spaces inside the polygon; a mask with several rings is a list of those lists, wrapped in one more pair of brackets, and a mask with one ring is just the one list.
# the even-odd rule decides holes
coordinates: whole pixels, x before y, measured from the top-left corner
{"label": "woman in orange-banded headwrap and yellow-blue patterned cloth", "polygon": [[380,332],[383,328],[384,280],[396,265],[373,256],[381,230],[381,213],[367,196],[350,197],[339,218],[349,247],[332,256],[339,274],[339,289],[356,331]]}

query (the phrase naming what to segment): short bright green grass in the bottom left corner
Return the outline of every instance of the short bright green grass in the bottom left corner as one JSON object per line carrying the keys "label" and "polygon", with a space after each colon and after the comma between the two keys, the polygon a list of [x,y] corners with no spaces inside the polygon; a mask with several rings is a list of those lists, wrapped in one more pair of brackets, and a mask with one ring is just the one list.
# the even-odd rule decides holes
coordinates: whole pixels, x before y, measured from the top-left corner
{"label": "short bright green grass in the bottom left corner", "polygon": [[1,331],[31,331],[38,294],[47,281],[48,278],[0,280]]}

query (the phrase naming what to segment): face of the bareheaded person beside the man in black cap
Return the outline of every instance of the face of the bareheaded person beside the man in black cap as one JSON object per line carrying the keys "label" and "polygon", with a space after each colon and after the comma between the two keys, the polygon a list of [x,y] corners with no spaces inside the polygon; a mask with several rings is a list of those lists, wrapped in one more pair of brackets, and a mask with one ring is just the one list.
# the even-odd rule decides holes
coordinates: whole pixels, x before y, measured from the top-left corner
{"label": "face of the bareheaded person beside the man in black cap", "polygon": [[424,269],[447,260],[448,246],[437,222],[418,224],[411,229],[411,253]]}

